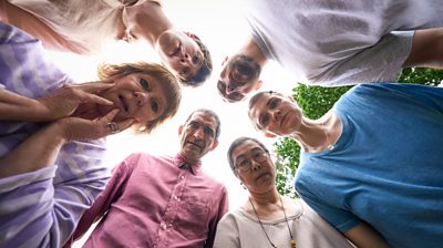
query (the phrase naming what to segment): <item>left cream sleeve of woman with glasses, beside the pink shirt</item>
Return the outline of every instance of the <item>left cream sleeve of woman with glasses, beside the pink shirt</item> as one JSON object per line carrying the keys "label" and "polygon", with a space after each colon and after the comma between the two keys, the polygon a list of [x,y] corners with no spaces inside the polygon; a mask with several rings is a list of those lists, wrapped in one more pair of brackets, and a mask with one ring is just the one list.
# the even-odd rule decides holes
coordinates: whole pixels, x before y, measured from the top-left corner
{"label": "left cream sleeve of woman with glasses, beside the pink shirt", "polygon": [[225,215],[217,226],[217,234],[214,240],[214,248],[240,248],[237,221],[234,215]]}

